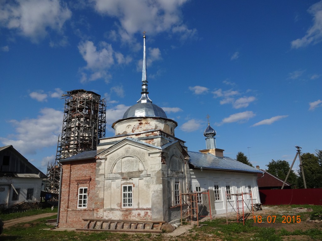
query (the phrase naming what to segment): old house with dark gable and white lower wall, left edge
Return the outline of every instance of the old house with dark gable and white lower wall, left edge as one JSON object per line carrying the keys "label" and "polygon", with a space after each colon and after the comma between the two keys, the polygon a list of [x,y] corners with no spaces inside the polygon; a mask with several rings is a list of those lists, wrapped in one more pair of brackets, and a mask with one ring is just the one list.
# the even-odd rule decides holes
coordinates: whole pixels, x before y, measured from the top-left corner
{"label": "old house with dark gable and white lower wall, left edge", "polygon": [[0,147],[0,164],[0,209],[24,201],[40,201],[45,174],[13,146]]}

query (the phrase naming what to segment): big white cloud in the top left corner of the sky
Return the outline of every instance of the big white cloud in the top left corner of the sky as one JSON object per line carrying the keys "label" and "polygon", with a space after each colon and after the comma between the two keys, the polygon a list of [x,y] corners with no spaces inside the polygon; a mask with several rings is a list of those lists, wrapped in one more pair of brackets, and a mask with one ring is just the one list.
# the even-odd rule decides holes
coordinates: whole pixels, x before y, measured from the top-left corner
{"label": "big white cloud in the top left corner of the sky", "polygon": [[71,11],[59,0],[2,1],[1,26],[16,30],[33,42],[45,38],[48,29],[62,31],[64,23],[71,18]]}

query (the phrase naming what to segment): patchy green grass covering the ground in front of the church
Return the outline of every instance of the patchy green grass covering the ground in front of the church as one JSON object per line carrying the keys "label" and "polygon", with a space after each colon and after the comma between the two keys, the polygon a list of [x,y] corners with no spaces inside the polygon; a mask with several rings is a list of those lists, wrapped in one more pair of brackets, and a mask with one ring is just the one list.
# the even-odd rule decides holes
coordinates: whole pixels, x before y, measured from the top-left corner
{"label": "patchy green grass covering the ground in front of the church", "polygon": [[[300,205],[292,205],[292,208],[299,207]],[[303,205],[301,205],[303,207]],[[306,207],[304,205],[304,207]],[[319,212],[322,206],[311,206],[308,207],[313,209],[311,213],[299,213],[301,215],[306,215],[309,217],[312,213]],[[51,209],[38,210],[38,212],[51,212]],[[54,210],[55,211],[55,210]],[[36,211],[37,212],[37,211]],[[30,215],[37,214],[35,211],[29,212]],[[27,213],[27,212],[25,212]],[[24,214],[25,214],[24,213]],[[8,214],[9,215],[9,214]],[[10,214],[13,215],[13,214]],[[279,219],[276,222],[281,223],[280,214],[271,213],[270,215],[276,215]],[[26,216],[26,215],[25,215]],[[271,227],[262,227],[260,225],[254,225],[254,220],[252,218],[246,220],[245,226],[242,223],[229,223],[226,224],[226,219],[213,219],[211,221],[203,222],[207,226],[202,226],[200,228],[193,228],[189,230],[185,235],[178,237],[165,237],[164,234],[126,234],[126,233],[114,233],[114,232],[75,232],[75,231],[53,231],[53,230],[43,230],[44,228],[50,228],[51,226],[45,225],[46,219],[55,218],[56,216],[34,220],[27,223],[18,224],[13,227],[5,228],[4,233],[1,235],[1,240],[3,241],[64,241],[64,240],[84,240],[84,241],[195,241],[195,240],[227,240],[227,241],[246,241],[246,240],[256,240],[256,241],[282,241],[285,236],[307,236],[311,237],[313,240],[322,240],[322,230],[318,228],[311,228],[308,230],[294,230],[287,231],[283,226],[281,229],[275,229]],[[305,221],[304,217],[302,221]],[[287,224],[286,224],[287,225]],[[279,226],[280,227],[280,226]]]}

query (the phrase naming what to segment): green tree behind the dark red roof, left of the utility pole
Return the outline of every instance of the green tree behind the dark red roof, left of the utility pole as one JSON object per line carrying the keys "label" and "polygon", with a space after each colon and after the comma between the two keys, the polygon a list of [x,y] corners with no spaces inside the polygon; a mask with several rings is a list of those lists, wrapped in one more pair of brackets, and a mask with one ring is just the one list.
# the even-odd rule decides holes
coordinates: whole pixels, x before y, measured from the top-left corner
{"label": "green tree behind the dark red roof, left of the utility pole", "polygon": [[[289,173],[289,163],[287,161],[272,160],[266,166],[268,167],[268,169],[266,170],[267,172],[285,181],[285,178]],[[287,178],[287,182],[291,183],[292,185],[297,185],[298,184],[297,179],[298,177],[296,176],[295,172],[291,170],[291,172],[289,173],[289,177]]]}

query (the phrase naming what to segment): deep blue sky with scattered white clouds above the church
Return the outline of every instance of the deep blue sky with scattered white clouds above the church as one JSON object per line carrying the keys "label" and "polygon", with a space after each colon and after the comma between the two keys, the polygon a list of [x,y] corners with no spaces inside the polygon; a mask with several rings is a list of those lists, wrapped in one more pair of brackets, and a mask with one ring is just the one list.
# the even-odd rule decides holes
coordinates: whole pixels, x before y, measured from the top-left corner
{"label": "deep blue sky with scattered white clouds above the church", "polygon": [[[107,132],[140,98],[143,39],[149,97],[175,136],[266,168],[295,145],[322,149],[322,1],[1,0],[0,146],[46,173],[65,91],[106,98]],[[250,148],[248,148],[250,147]]]}

